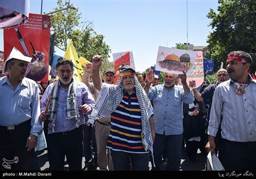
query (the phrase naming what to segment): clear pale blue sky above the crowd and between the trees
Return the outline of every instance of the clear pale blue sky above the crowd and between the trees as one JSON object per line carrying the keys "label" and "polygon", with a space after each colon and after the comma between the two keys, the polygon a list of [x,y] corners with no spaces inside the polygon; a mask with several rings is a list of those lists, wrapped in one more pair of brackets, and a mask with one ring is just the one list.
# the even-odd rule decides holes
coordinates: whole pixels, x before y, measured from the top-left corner
{"label": "clear pale blue sky above the crowd and between the trees", "polygon": [[[30,13],[40,14],[41,2],[30,0]],[[42,12],[53,12],[57,2],[43,0]],[[111,49],[109,61],[113,61],[113,53],[132,51],[136,71],[156,64],[159,46],[206,46],[212,31],[211,19],[206,16],[210,8],[217,12],[219,5],[218,0],[70,0],[70,4],[78,8],[81,20],[93,22],[95,32],[104,35]],[[4,51],[3,30],[0,51]],[[56,47],[55,54],[63,56],[65,52]]]}

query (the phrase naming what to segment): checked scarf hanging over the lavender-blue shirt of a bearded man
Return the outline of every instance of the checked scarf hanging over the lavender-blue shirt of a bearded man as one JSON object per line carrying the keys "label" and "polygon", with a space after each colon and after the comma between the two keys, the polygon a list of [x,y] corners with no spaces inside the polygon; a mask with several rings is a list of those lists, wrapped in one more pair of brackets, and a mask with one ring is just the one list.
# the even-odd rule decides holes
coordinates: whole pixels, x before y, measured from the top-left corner
{"label": "checked scarf hanging over the lavender-blue shirt of a bearded man", "polygon": [[[77,98],[76,98],[76,86],[77,83],[72,80],[71,84],[68,87],[68,93],[67,93],[67,120],[75,119],[76,127],[79,127],[79,110],[77,107]],[[59,88],[60,88],[60,79],[55,82],[52,91],[51,91],[51,97],[50,97],[50,104],[48,107],[48,113],[49,118],[48,120],[51,121],[52,124],[52,132],[54,132],[55,127],[55,120],[56,120],[56,111],[57,111],[57,105],[58,105],[58,94],[59,94]]]}

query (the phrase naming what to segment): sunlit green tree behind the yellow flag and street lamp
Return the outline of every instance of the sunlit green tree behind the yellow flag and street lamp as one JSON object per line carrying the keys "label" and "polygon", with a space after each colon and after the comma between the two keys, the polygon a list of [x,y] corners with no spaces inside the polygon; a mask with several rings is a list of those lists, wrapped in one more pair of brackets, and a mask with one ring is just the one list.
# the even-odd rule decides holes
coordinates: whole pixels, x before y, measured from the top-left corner
{"label": "sunlit green tree behind the yellow flag and street lamp", "polygon": [[[54,11],[67,6],[62,3],[62,0],[58,0],[57,4],[58,7],[54,8]],[[94,55],[101,55],[103,59],[102,69],[104,70],[112,65],[108,61],[111,49],[104,42],[104,36],[98,35],[93,30],[92,24],[90,21],[81,21],[81,13],[78,13],[78,9],[68,9],[51,14],[51,33],[54,36],[56,47],[66,51],[68,41],[72,39],[79,57],[83,56],[88,61],[92,61]]]}

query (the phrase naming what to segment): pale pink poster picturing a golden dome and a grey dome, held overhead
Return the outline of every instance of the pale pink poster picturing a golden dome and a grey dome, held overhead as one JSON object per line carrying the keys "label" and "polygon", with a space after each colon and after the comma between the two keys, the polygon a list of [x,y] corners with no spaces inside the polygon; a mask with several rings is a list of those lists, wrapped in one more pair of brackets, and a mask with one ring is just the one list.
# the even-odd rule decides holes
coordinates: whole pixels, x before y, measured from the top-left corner
{"label": "pale pink poster picturing a golden dome and a grey dome, held overhead", "polygon": [[182,50],[159,46],[156,60],[156,70],[171,74],[182,74],[187,76],[193,70],[197,51]]}

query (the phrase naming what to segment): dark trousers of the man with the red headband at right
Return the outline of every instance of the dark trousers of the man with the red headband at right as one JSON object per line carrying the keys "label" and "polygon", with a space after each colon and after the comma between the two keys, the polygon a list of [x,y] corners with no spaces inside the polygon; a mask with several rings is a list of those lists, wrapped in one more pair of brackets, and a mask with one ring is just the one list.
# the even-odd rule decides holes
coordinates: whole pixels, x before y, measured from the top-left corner
{"label": "dark trousers of the man with the red headband at right", "polygon": [[219,158],[225,170],[256,169],[256,142],[233,142],[221,139]]}

